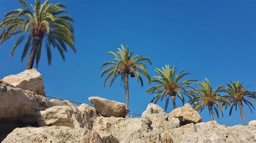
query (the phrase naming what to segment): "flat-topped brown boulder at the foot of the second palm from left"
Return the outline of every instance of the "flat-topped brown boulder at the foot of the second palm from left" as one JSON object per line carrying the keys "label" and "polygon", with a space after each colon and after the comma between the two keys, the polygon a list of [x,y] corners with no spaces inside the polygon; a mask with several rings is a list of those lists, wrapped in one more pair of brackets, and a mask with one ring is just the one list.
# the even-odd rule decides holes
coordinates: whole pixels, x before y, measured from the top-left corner
{"label": "flat-topped brown boulder at the foot of the second palm from left", "polygon": [[89,97],[89,101],[93,103],[94,108],[104,117],[125,117],[130,111],[125,105],[113,100],[107,100],[100,97]]}

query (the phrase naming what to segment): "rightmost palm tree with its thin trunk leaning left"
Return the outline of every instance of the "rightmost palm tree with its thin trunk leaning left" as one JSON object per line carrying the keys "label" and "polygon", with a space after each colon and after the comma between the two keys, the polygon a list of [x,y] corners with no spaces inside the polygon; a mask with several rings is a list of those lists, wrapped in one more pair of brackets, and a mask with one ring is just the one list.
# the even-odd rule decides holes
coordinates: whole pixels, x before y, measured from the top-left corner
{"label": "rightmost palm tree with its thin trunk leaning left", "polygon": [[[244,104],[248,105],[250,110],[251,110],[251,107],[255,109],[253,104],[250,101],[256,102],[256,92],[247,91],[246,90],[247,87],[244,88],[243,82],[240,83],[239,81],[237,82],[230,81],[230,83],[226,83],[226,85],[227,86],[222,91],[228,94],[226,99],[231,103],[229,116],[232,113],[233,106],[236,106],[236,110],[237,110],[237,105],[238,105],[242,119],[244,121],[244,125],[246,126],[247,124],[244,117],[243,102]],[[227,108],[227,105],[226,105],[226,108]],[[253,113],[252,110],[251,110],[251,113]]]}

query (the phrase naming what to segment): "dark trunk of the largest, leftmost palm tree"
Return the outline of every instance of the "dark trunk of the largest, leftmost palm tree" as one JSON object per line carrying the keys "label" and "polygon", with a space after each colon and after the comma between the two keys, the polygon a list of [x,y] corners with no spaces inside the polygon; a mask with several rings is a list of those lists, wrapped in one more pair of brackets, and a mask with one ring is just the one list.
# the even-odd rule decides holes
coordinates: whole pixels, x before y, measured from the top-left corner
{"label": "dark trunk of the largest, leftmost palm tree", "polygon": [[40,43],[40,40],[41,39],[37,36],[33,37],[32,47],[31,47],[31,50],[30,50],[30,53],[29,53],[29,59],[28,59],[27,67],[26,67],[27,70],[33,68],[34,61],[35,61],[35,54],[36,54],[37,47]]}

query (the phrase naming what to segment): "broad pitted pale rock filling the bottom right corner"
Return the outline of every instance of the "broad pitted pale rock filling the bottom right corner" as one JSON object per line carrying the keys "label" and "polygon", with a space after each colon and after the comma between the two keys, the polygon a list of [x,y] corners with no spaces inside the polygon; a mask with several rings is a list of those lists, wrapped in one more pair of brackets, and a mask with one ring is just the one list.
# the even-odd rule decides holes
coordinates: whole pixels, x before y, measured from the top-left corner
{"label": "broad pitted pale rock filling the bottom right corner", "polygon": [[169,130],[174,142],[255,142],[247,126],[226,127],[215,121],[186,124]]}

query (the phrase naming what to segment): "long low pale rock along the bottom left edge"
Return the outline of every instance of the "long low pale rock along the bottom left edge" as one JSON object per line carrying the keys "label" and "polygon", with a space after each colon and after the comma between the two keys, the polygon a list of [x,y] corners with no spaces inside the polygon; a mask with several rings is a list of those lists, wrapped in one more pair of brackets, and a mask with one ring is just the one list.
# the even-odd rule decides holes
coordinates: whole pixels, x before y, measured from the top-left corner
{"label": "long low pale rock along the bottom left edge", "polygon": [[65,126],[25,127],[16,128],[2,143],[103,143],[102,138],[95,131],[74,129]]}

